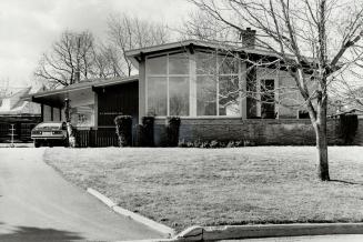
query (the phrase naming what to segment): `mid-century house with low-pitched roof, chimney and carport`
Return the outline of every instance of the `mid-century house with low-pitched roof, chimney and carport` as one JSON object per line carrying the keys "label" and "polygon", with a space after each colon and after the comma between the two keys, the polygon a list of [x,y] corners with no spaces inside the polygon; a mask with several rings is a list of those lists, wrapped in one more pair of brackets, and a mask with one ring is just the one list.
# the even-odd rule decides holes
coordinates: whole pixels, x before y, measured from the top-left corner
{"label": "mid-century house with low-pitched roof, chimney and carport", "polygon": [[133,124],[154,115],[157,145],[172,115],[181,117],[183,140],[314,143],[294,80],[275,53],[254,48],[254,33],[246,29],[239,47],[185,40],[130,50],[139,75],[89,80],[28,99],[42,105],[43,120],[63,120],[68,99],[72,124],[98,132],[114,133],[119,114],[132,115]]}

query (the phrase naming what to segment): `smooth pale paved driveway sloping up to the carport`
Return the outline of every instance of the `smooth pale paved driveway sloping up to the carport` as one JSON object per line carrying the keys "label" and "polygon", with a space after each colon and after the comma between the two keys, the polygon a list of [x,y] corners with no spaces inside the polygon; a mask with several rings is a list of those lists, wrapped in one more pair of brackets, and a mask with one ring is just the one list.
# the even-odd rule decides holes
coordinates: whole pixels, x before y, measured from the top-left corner
{"label": "smooth pale paved driveway sloping up to the carport", "polygon": [[162,238],[67,182],[42,162],[43,152],[0,148],[0,241]]}

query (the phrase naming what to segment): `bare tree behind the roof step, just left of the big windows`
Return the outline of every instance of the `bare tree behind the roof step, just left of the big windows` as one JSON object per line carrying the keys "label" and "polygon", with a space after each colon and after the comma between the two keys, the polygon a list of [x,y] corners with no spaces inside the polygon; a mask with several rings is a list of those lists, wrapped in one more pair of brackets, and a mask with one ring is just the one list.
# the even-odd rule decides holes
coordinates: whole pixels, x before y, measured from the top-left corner
{"label": "bare tree behind the roof step, just left of the big windows", "polygon": [[117,75],[131,75],[133,67],[125,51],[168,42],[167,26],[150,22],[127,14],[113,14],[108,20],[108,34],[118,51],[118,62],[113,62]]}

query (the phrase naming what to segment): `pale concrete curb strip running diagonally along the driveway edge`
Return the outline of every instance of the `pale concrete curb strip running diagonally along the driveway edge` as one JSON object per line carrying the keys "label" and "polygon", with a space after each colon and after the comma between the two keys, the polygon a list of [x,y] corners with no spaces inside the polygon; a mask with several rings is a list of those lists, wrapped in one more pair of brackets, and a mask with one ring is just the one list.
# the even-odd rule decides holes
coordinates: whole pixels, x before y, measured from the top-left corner
{"label": "pale concrete curb strip running diagonally along the driveway edge", "polygon": [[[111,208],[114,212],[127,216],[129,219],[132,219],[139,223],[142,223],[162,234],[165,234],[168,238],[172,238],[175,235],[175,231],[164,224],[158,223],[153,220],[150,220],[145,216],[142,216],[138,213],[131,212],[129,210],[125,210],[121,206],[119,206],[115,202],[113,202],[112,200],[110,200],[109,198],[107,198],[105,195],[103,195],[102,193],[95,191],[94,189],[88,188],[87,192],[92,194],[93,196],[95,196],[98,200],[100,200],[101,202],[103,202],[105,205],[108,205],[109,208]],[[168,240],[154,240],[154,241],[168,241]]]}

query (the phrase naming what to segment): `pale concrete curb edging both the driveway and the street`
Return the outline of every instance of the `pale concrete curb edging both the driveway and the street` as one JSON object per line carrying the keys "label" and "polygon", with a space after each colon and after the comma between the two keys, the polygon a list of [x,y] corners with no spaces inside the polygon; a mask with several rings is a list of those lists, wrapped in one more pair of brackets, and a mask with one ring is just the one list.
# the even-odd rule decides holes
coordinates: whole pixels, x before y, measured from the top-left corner
{"label": "pale concrete curb edging both the driveway and the street", "polygon": [[[175,231],[164,224],[118,206],[112,200],[89,188],[87,191],[102,201],[114,212],[168,235],[170,239],[139,240],[140,242],[194,242],[253,238],[279,238],[329,234],[363,234],[363,223],[291,223],[223,226],[190,226],[175,235]],[[133,241],[137,242],[137,241]]]}

